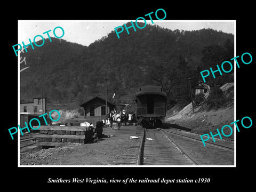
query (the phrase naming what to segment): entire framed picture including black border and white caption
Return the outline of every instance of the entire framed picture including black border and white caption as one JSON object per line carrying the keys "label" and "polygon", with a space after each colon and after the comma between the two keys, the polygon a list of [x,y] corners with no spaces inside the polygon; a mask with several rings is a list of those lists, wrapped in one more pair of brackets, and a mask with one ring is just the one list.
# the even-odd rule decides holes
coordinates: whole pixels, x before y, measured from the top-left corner
{"label": "entire framed picture including black border and white caption", "polygon": [[10,177],[84,190],[251,183],[250,13],[78,10],[9,23]]}

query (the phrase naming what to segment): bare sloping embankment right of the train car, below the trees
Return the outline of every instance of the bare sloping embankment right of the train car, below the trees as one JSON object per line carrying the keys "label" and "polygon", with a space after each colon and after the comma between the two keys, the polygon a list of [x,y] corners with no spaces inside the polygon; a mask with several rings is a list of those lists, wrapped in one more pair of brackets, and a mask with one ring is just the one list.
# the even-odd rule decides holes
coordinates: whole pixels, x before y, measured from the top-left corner
{"label": "bare sloping embankment right of the train car, below the trees", "polygon": [[[220,89],[229,98],[227,107],[217,110],[202,110],[202,107],[195,108],[195,114],[192,111],[192,105],[189,103],[186,107],[174,115],[166,116],[165,122],[177,124],[191,129],[191,131],[198,133],[217,133],[223,125],[230,125],[234,122],[234,83],[227,83],[220,87]],[[234,128],[234,126],[231,126]],[[230,139],[234,138],[234,134]]]}

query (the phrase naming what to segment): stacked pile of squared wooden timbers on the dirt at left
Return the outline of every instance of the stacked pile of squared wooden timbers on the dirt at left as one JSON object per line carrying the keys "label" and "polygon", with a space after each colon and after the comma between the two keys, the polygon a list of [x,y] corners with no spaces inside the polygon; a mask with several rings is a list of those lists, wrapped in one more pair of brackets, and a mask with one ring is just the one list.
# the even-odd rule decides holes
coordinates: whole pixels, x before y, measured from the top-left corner
{"label": "stacked pile of squared wooden timbers on the dirt at left", "polygon": [[69,143],[93,141],[93,127],[85,126],[40,126],[35,134],[40,146],[63,146]]}

